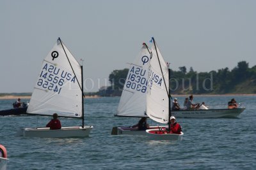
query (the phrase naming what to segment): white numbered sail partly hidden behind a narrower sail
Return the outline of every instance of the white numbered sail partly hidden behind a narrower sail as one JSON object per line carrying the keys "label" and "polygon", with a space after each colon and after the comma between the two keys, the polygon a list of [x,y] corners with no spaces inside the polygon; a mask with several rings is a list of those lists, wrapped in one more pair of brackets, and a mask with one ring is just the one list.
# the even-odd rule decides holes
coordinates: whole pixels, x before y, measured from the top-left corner
{"label": "white numbered sail partly hidden behind a narrower sail", "polygon": [[143,44],[127,74],[117,116],[147,117],[145,111],[149,60],[150,53],[147,46]]}

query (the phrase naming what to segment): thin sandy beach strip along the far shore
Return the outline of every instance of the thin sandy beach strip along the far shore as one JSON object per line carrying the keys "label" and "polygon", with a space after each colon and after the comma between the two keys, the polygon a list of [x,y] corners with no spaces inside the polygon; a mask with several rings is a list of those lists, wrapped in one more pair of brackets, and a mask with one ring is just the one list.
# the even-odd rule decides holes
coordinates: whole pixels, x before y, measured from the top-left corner
{"label": "thin sandy beach strip along the far shore", "polygon": [[[188,97],[189,94],[173,94],[172,96],[177,96],[177,97]],[[256,96],[256,94],[193,94],[193,96],[206,96],[206,97],[211,97],[211,96]],[[30,99],[31,96],[0,96],[0,99]],[[85,96],[84,98],[99,98],[100,96]]]}

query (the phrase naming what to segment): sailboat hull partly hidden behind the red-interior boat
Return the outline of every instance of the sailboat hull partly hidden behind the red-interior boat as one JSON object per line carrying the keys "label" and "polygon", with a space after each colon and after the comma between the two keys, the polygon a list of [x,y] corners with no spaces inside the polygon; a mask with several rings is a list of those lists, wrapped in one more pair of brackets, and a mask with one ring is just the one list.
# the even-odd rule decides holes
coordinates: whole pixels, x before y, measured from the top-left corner
{"label": "sailboat hull partly hidden behind the red-interior boat", "polygon": [[[158,129],[166,126],[150,126],[150,129]],[[114,135],[122,135],[122,134],[128,134],[128,135],[146,135],[146,131],[138,131],[136,128],[132,127],[113,127],[111,134]]]}

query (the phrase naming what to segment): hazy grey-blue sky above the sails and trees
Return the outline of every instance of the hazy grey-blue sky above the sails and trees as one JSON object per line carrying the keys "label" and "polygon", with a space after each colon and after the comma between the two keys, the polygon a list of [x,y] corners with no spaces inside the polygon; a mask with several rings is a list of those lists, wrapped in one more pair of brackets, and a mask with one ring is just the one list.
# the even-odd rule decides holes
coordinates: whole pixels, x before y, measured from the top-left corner
{"label": "hazy grey-blue sky above the sails and trees", "polygon": [[33,92],[58,37],[84,59],[86,92],[108,85],[152,36],[175,71],[255,66],[255,8],[253,0],[0,0],[0,93]]}

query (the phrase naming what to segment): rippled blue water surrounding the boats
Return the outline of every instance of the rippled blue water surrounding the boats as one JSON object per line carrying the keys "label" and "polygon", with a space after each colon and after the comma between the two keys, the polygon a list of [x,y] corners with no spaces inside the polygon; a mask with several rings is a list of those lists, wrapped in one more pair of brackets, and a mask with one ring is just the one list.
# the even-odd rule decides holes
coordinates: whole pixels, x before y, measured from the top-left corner
{"label": "rippled blue water surrounding the boats", "polygon": [[[113,117],[119,97],[85,100],[85,123],[94,126],[89,138],[15,138],[17,128],[42,127],[51,118],[0,117],[0,143],[8,150],[8,169],[255,169],[256,96],[194,100],[223,104],[232,97],[246,107],[239,118],[179,118],[184,138],[176,144],[145,136],[111,136],[113,126],[138,122],[138,118]],[[184,100],[177,98],[180,103]],[[0,110],[12,103],[0,100]],[[81,125],[77,119],[60,119],[63,126]]]}

